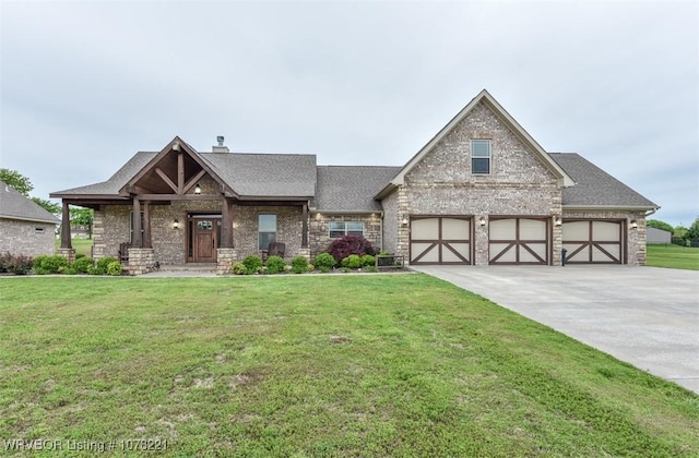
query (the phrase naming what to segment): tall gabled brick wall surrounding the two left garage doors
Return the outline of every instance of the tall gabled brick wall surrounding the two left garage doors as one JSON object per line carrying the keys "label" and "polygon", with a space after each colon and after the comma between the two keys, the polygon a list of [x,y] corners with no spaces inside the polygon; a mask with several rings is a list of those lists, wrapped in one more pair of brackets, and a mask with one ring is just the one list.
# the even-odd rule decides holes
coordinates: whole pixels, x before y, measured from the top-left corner
{"label": "tall gabled brick wall surrounding the two left garage doors", "polygon": [[[490,173],[471,173],[471,140],[490,140]],[[535,216],[561,214],[558,179],[483,103],[420,160],[386,204],[402,215]],[[384,227],[392,230],[388,222]],[[408,256],[410,228],[398,224],[395,253]],[[560,263],[561,230],[553,230],[552,264]],[[389,246],[389,245],[387,245]],[[488,225],[475,225],[476,265],[488,264]]]}

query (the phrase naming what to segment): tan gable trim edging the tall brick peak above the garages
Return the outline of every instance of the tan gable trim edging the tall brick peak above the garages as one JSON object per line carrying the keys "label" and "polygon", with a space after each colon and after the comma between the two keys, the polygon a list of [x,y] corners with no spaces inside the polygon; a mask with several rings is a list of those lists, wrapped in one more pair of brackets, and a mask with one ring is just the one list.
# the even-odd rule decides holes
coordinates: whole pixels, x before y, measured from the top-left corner
{"label": "tan gable trim edging the tall brick peak above the garages", "polygon": [[463,107],[455,117],[451,119],[438,133],[435,135],[425,146],[423,146],[416,154],[407,161],[407,164],[401,169],[401,171],[391,180],[391,182],[377,195],[382,197],[387,195],[391,188],[403,184],[404,177],[427,155],[433,148],[446,137],[461,121],[463,121],[471,111],[481,103],[484,103],[535,154],[542,164],[548,168],[559,180],[561,186],[570,186],[573,184],[573,180],[566,173],[564,169],[556,164],[548,154],[542,148],[542,146],[508,113],[505,108],[488,93],[486,89],[473,98]]}

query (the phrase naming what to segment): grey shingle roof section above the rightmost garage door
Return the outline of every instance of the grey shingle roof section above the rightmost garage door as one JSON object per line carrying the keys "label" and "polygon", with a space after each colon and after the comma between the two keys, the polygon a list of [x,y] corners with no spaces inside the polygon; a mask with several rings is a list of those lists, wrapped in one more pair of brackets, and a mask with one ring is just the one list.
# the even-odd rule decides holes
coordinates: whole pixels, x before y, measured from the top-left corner
{"label": "grey shingle roof section above the rightmost garage door", "polygon": [[573,186],[564,188],[564,206],[659,208],[659,205],[576,153],[549,153],[549,156],[576,182]]}

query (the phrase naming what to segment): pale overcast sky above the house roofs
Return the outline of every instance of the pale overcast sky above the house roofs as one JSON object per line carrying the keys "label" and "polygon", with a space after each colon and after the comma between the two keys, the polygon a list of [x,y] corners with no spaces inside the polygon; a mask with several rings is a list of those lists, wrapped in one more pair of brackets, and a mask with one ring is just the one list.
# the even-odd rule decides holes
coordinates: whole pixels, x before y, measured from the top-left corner
{"label": "pale overcast sky above the house roofs", "polygon": [[0,167],[33,196],[179,135],[402,166],[483,88],[688,227],[699,216],[694,1],[0,0]]}

